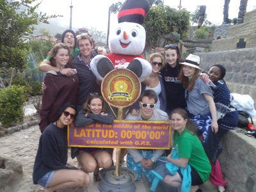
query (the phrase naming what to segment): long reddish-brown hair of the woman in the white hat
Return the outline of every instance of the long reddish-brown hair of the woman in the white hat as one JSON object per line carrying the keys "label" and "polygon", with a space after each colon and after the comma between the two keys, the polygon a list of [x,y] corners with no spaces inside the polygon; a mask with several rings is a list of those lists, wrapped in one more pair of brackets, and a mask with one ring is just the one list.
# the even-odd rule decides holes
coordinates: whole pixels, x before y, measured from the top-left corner
{"label": "long reddish-brown hair of the woman in the white hat", "polygon": [[179,73],[178,79],[179,79],[180,83],[182,83],[183,88],[188,88],[188,91],[191,92],[191,90],[193,90],[193,88],[194,88],[196,79],[200,76],[199,68],[195,68],[196,69],[195,74],[189,81],[188,77],[184,76],[183,67],[184,67],[184,65],[182,65],[182,67],[180,68],[180,73]]}

